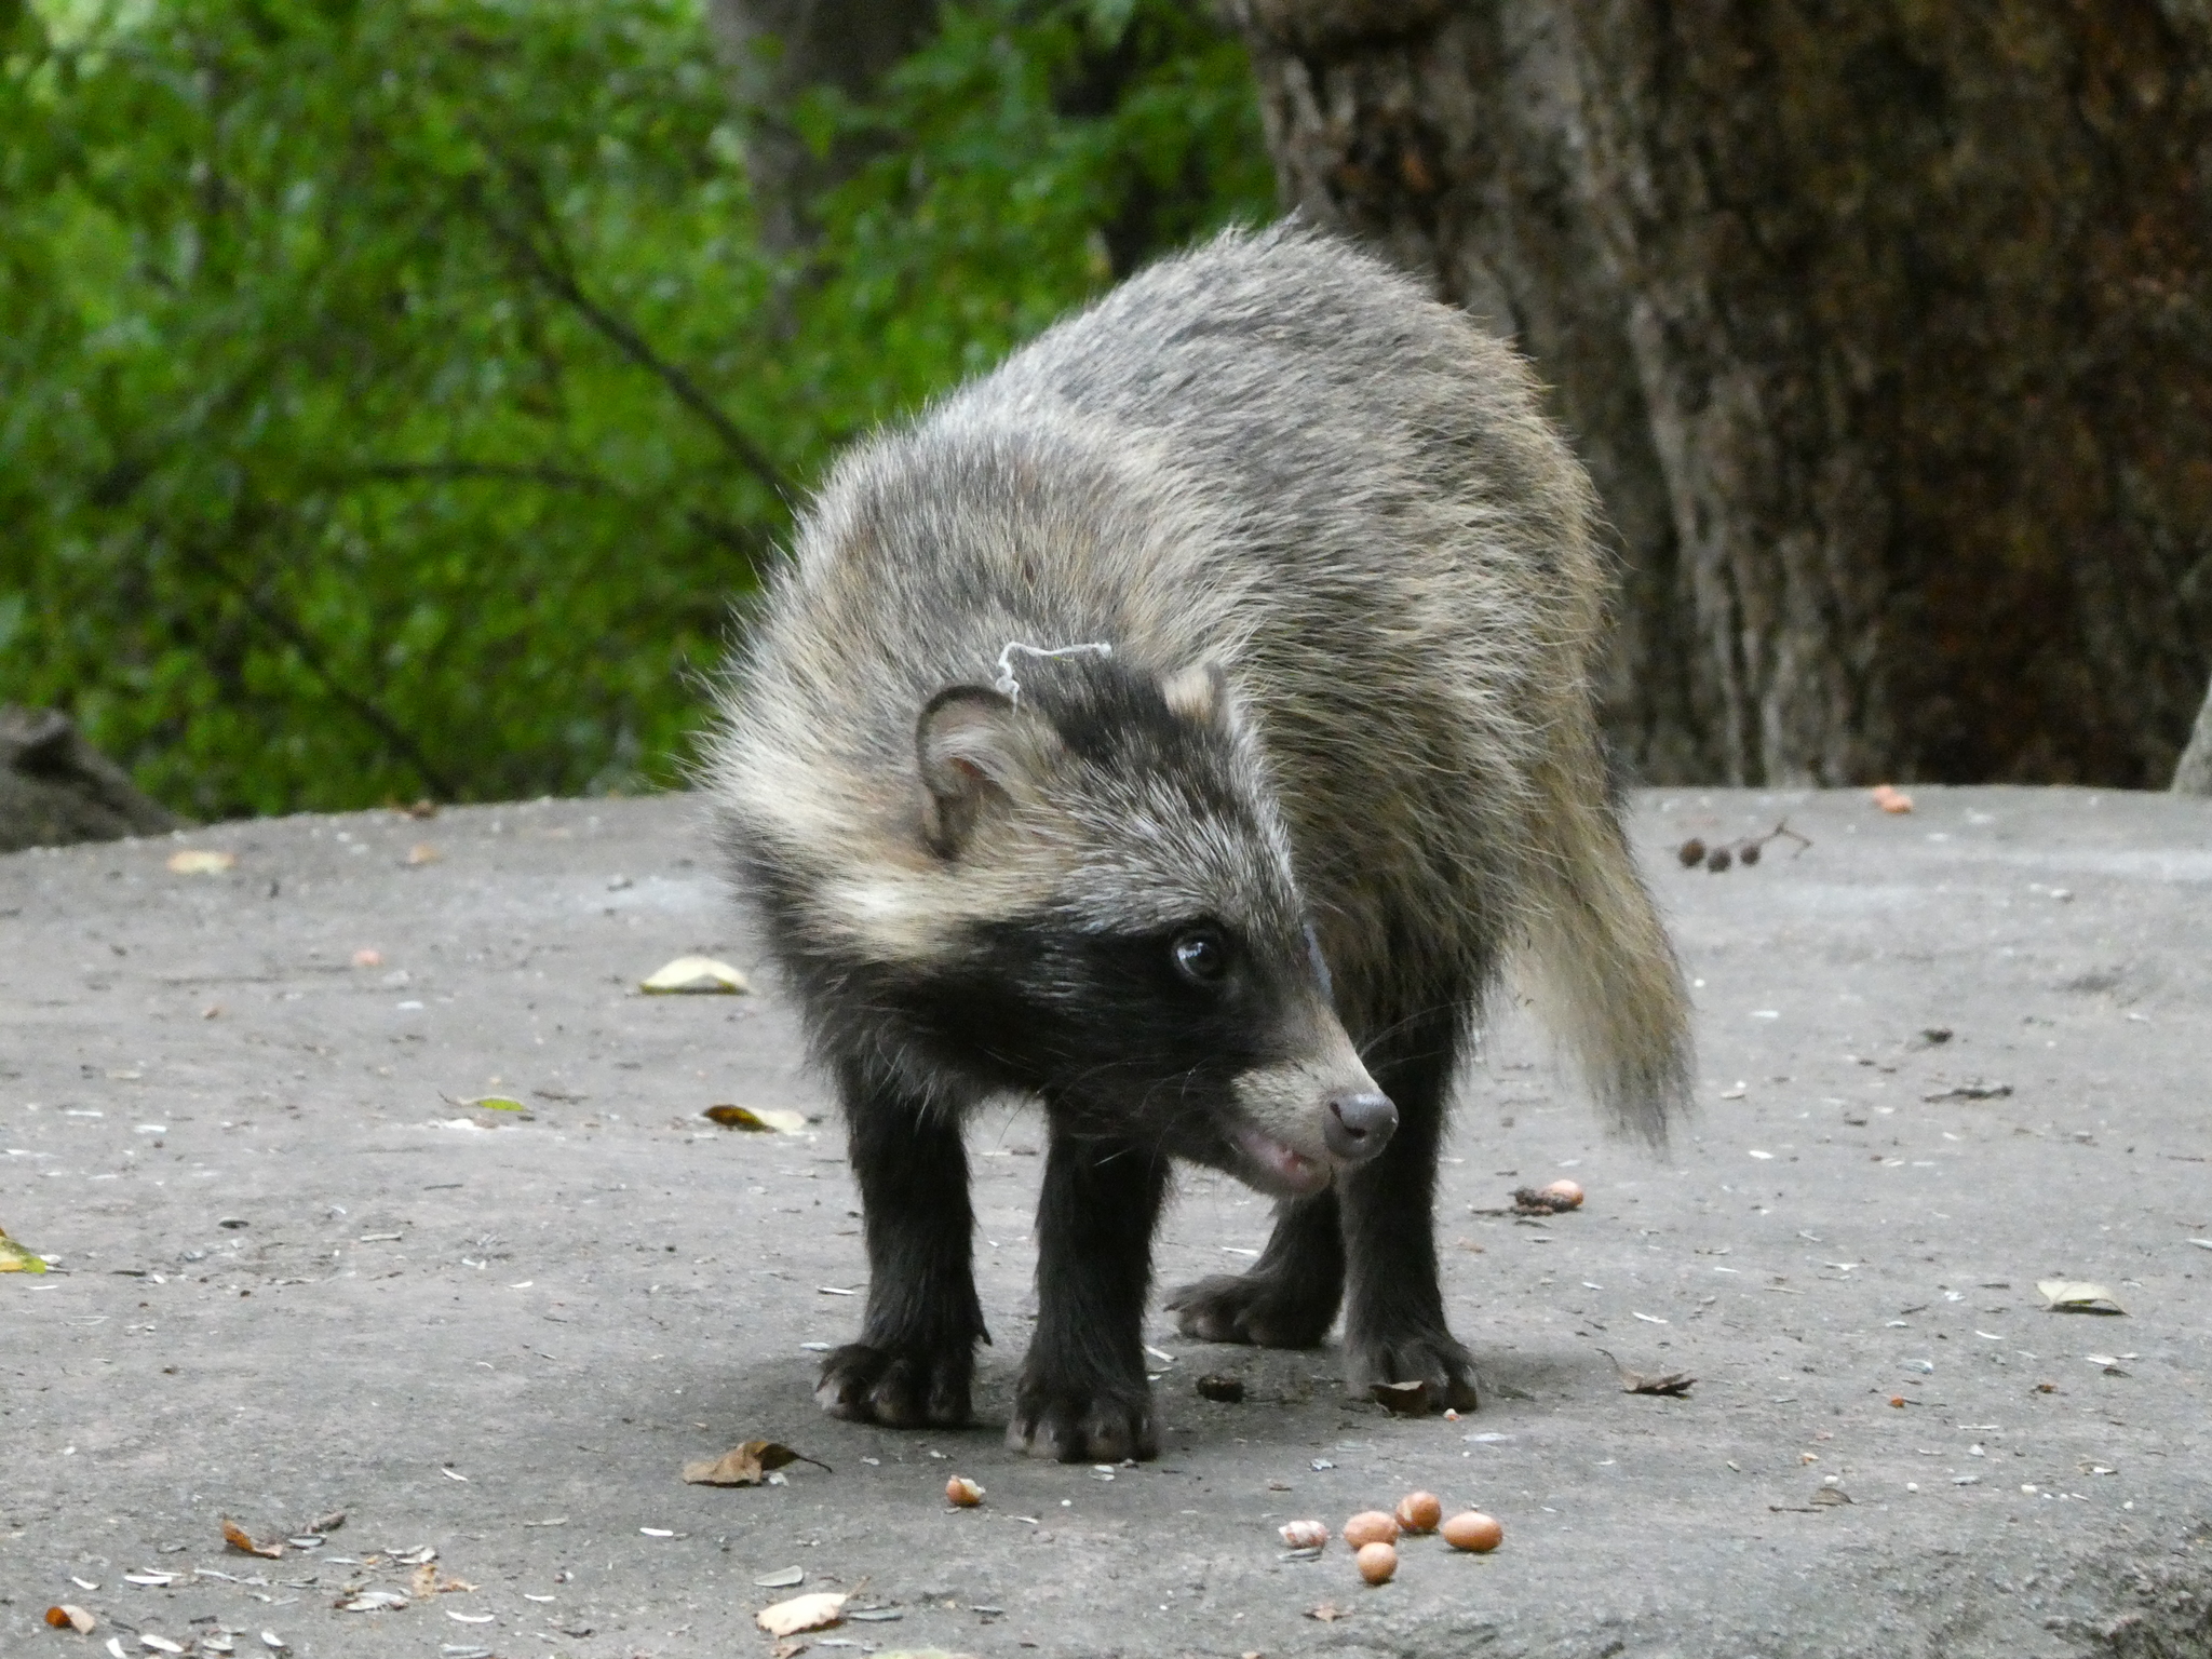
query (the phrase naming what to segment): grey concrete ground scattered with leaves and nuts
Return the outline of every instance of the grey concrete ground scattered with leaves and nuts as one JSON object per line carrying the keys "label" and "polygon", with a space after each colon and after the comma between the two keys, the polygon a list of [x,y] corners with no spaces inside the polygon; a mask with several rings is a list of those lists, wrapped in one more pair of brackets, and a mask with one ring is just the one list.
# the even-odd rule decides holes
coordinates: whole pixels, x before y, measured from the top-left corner
{"label": "grey concrete ground scattered with leaves and nuts", "polygon": [[[1639,801],[1703,1115],[1666,1161],[1610,1146],[1533,1031],[1493,1033],[1440,1203],[1480,1413],[1389,1418],[1327,1349],[1155,1316],[1144,1469],[1000,1444],[1015,1108],[973,1137],[984,1420],[816,1413],[865,1272],[836,1126],[701,1119],[827,1110],[790,1009],[765,975],[637,993],[688,951],[754,967],[690,801],[0,858],[0,1228],[55,1259],[0,1276],[0,1650],[768,1655],[757,1608],[843,1590],[880,1617],[821,1655],[2212,1655],[2212,803],[1916,794]],[[1672,858],[1783,816],[1801,856]],[[1502,1212],[1562,1175],[1584,1210]],[[1265,1230],[1190,1175],[1159,1279]],[[2046,1312],[2059,1276],[2126,1314]],[[1624,1394],[1601,1349],[1697,1385]],[[679,1480],[750,1438],[834,1473]],[[1416,1486],[1504,1546],[1409,1542],[1376,1590],[1340,1544],[1283,1559],[1281,1522]],[[321,1546],[223,1546],[330,1511]],[[471,1588],[422,1593],[422,1546]],[[334,1606],[374,1590],[407,1606]],[[44,1626],[64,1601],[91,1637]]]}

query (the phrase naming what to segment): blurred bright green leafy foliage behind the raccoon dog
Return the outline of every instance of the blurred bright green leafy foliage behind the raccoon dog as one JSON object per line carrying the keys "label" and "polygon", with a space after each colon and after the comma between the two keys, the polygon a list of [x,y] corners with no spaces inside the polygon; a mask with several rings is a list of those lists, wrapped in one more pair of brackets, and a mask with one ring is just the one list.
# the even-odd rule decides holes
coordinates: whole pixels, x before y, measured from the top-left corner
{"label": "blurred bright green leafy foliage behind the raccoon dog", "polygon": [[803,254],[745,117],[695,0],[0,0],[0,699],[201,818],[668,783],[838,445],[1272,208],[1179,0],[947,7]]}

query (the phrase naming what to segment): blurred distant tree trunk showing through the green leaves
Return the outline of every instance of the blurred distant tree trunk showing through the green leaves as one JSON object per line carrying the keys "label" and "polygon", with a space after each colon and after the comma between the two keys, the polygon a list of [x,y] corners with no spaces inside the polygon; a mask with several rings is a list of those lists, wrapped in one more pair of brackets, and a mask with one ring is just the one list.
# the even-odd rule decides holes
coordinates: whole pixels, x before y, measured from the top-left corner
{"label": "blurred distant tree trunk showing through the green leaves", "polygon": [[891,64],[936,27],[936,0],[708,0],[708,24],[745,113],[745,175],[761,241],[774,252],[812,241],[807,201],[860,164],[849,146],[814,155],[790,122],[814,86],[867,97]]}

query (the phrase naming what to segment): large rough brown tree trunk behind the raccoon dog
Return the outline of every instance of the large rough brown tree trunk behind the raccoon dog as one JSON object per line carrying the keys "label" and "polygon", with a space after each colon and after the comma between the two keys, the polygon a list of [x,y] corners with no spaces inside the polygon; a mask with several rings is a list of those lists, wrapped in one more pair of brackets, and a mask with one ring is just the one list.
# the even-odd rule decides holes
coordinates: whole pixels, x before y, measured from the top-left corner
{"label": "large rough brown tree trunk behind the raccoon dog", "polygon": [[1553,385],[1644,776],[2170,776],[2212,675],[2201,9],[1230,4],[1285,201]]}

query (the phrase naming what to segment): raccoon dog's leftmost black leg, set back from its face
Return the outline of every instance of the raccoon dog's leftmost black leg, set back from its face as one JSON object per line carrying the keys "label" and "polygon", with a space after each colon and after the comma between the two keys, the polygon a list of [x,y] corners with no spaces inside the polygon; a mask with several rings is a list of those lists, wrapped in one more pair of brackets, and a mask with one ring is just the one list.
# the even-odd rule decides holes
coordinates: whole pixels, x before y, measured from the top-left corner
{"label": "raccoon dog's leftmost black leg, set back from its face", "polygon": [[975,1340],[991,1340],[975,1301],[967,1148],[960,1121],[860,1068],[841,1068],[852,1168],[867,1221],[867,1318],[860,1340],[825,1363],[823,1411],[896,1429],[969,1420]]}

